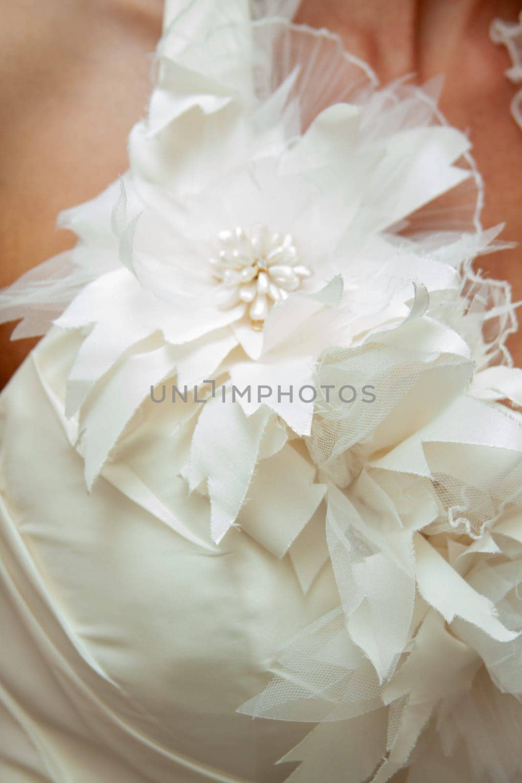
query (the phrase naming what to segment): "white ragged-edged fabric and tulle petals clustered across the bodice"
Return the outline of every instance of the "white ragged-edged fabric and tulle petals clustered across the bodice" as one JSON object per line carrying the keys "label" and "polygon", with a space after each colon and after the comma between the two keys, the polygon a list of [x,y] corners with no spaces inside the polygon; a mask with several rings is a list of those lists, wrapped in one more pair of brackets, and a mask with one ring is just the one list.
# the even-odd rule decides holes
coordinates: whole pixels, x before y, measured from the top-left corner
{"label": "white ragged-edged fabric and tulle petals clustered across the bodice", "polygon": [[0,294],[70,353],[45,383],[89,488],[210,550],[240,529],[304,593],[331,569],[338,606],[240,707],[319,724],[284,758],[302,783],[325,756],[329,783],[522,774],[516,321],[473,269],[498,231],[435,88],[377,88],[247,2],[167,5],[129,171]]}

